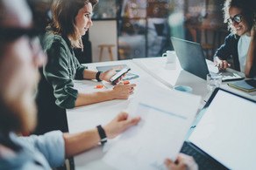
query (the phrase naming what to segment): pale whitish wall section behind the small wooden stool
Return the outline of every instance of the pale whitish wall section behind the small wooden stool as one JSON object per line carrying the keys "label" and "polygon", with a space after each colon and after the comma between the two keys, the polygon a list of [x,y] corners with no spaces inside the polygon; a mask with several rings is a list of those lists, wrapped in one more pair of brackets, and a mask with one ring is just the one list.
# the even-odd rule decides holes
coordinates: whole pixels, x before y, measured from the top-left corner
{"label": "pale whitish wall section behind the small wooden stool", "polygon": [[[92,47],[92,62],[98,62],[100,56],[99,44],[115,44],[112,47],[114,60],[117,60],[117,21],[93,21],[89,28],[89,40]],[[107,48],[103,50],[103,61],[110,61]]]}

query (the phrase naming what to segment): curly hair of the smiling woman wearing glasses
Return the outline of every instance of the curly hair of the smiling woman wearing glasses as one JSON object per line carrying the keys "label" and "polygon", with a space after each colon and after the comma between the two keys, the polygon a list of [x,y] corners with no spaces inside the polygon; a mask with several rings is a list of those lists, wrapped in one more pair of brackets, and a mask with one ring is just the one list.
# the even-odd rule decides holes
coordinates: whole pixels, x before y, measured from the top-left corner
{"label": "curly hair of the smiling woman wearing glasses", "polygon": [[233,25],[228,22],[230,18],[229,10],[231,7],[237,7],[243,11],[243,16],[246,22],[249,24],[249,28],[256,29],[256,3],[255,0],[226,0],[224,3],[224,23],[228,24],[228,29],[231,33],[236,34],[237,31]]}

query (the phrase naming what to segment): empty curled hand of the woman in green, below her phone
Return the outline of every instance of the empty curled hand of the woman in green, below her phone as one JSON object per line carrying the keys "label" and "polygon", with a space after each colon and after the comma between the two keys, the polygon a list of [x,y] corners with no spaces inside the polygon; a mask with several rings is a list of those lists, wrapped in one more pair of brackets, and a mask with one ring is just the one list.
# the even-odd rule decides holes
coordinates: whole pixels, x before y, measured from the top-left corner
{"label": "empty curled hand of the woman in green, below her phone", "polygon": [[135,84],[124,85],[121,82],[113,88],[112,96],[114,99],[128,99],[133,94],[135,86]]}

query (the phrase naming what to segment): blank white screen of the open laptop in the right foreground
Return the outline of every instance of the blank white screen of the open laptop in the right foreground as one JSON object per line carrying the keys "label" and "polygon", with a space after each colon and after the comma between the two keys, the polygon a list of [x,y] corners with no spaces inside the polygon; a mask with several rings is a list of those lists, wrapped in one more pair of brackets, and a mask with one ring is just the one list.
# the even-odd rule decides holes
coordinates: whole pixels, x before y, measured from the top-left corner
{"label": "blank white screen of the open laptop in the right foreground", "polygon": [[225,167],[252,169],[256,160],[256,104],[218,90],[189,141]]}

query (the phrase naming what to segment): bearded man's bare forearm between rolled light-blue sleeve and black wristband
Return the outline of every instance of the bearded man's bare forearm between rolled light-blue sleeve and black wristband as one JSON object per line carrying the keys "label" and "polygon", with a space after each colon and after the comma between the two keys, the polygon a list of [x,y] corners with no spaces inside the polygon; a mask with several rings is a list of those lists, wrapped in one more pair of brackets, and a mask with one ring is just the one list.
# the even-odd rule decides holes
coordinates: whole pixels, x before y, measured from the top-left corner
{"label": "bearded man's bare forearm between rolled light-blue sleeve and black wristband", "polygon": [[98,144],[100,136],[96,128],[83,133],[63,133],[65,156],[70,157],[82,153]]}

